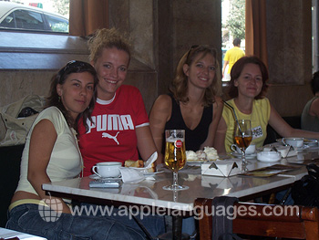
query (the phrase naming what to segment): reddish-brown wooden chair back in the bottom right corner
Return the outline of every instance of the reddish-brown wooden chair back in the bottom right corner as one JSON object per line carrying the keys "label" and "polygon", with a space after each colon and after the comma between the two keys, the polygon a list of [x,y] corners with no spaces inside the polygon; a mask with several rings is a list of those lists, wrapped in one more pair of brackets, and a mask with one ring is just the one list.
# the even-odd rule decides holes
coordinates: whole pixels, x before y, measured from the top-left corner
{"label": "reddish-brown wooden chair back in the bottom right corner", "polygon": [[[214,213],[211,203],[212,199],[206,198],[198,198],[194,203],[199,216],[201,240],[211,240],[211,214]],[[319,240],[316,207],[239,202],[234,203],[233,208],[234,234]]]}

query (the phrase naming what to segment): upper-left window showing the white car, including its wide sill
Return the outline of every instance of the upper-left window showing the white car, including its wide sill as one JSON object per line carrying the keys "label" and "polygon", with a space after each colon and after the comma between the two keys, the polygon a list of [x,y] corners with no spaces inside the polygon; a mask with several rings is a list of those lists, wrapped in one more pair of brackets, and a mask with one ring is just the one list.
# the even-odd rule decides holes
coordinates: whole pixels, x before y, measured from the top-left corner
{"label": "upper-left window showing the white car, including its wide sill", "polygon": [[68,36],[68,17],[54,11],[0,0],[2,70],[58,69],[72,59],[87,61],[87,40]]}

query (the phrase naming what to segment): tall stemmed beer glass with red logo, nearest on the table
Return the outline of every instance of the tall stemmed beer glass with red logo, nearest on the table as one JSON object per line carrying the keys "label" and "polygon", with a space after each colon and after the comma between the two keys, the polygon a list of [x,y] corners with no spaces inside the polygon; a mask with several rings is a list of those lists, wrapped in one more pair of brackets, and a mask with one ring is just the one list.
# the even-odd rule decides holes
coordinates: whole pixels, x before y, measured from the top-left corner
{"label": "tall stemmed beer glass with red logo, nearest on the table", "polygon": [[178,184],[178,171],[186,163],[185,130],[165,130],[165,164],[173,172],[173,184],[164,186],[165,190],[185,190],[188,186]]}

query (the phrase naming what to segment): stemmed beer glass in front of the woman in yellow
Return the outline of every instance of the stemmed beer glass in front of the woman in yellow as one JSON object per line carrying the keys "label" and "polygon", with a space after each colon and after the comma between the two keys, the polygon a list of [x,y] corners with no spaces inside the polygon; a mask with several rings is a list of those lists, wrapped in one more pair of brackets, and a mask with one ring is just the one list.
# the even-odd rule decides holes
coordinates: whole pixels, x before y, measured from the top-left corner
{"label": "stemmed beer glass in front of the woman in yellow", "polygon": [[247,164],[245,151],[252,141],[251,120],[238,120],[235,122],[235,142],[242,151],[242,163]]}

